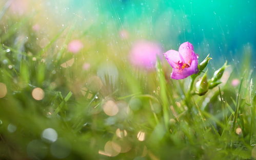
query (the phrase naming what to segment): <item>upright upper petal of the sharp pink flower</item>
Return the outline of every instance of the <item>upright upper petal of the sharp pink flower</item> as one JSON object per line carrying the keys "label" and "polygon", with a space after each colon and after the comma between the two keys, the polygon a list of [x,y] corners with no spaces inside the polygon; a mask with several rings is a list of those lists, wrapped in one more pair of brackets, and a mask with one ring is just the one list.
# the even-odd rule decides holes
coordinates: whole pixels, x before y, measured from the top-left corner
{"label": "upright upper petal of the sharp pink flower", "polygon": [[183,63],[190,64],[192,61],[191,56],[192,56],[192,54],[194,54],[193,45],[189,42],[185,42],[185,43],[181,44],[181,46],[179,48],[179,52],[185,61]]}

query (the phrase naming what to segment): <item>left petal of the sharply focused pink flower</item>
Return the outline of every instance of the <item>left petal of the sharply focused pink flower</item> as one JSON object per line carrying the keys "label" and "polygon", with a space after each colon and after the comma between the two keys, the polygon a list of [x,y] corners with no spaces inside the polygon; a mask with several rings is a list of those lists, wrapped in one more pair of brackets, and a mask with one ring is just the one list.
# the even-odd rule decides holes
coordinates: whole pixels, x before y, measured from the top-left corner
{"label": "left petal of the sharply focused pink flower", "polygon": [[172,68],[179,67],[178,62],[181,61],[180,53],[175,50],[169,50],[164,53],[164,56]]}

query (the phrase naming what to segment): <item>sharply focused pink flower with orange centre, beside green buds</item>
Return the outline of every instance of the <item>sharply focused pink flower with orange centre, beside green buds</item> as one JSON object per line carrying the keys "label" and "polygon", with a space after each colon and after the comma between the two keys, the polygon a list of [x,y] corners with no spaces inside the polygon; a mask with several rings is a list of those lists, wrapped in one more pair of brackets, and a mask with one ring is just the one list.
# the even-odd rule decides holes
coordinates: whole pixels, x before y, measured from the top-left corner
{"label": "sharply focused pink flower with orange centre, beside green buds", "polygon": [[169,50],[164,55],[173,68],[171,78],[184,79],[192,74],[198,73],[198,56],[194,53],[191,43],[185,42],[181,44],[179,52]]}

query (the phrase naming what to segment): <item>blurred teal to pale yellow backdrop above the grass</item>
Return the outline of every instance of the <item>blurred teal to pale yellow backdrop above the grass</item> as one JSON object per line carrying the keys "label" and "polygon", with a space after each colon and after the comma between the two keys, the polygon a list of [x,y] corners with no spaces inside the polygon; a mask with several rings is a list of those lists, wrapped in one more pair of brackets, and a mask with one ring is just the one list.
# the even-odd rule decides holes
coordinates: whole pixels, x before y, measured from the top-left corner
{"label": "blurred teal to pale yellow backdrop above the grass", "polygon": [[[5,2],[9,1],[2,1],[2,5]],[[14,2],[17,4],[11,5],[11,12],[20,17],[34,16],[33,23],[38,24],[38,28],[40,26],[41,32],[50,34],[47,29],[73,24],[77,37],[85,38],[89,36],[86,31],[91,28],[94,38],[87,38],[87,41],[93,43],[97,38],[104,39],[105,46],[115,48],[114,54],[120,54],[118,52],[122,52],[124,47],[130,47],[141,39],[159,43],[163,51],[178,50],[181,43],[189,41],[200,59],[210,54],[214,61],[212,64],[226,60],[239,64],[245,50],[255,53],[255,1]],[[120,41],[120,37],[124,41]],[[255,58],[253,54],[252,59]],[[256,66],[255,61],[251,63]]]}

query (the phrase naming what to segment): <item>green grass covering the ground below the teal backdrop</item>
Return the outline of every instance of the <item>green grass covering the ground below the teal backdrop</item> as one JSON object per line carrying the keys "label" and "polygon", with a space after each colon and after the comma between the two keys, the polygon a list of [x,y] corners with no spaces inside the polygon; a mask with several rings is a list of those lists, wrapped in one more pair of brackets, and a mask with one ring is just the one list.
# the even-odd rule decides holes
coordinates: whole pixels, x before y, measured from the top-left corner
{"label": "green grass covering the ground below the teal backdrop", "polygon": [[[0,98],[1,159],[255,158],[256,92],[250,66],[241,67],[243,75],[231,73],[219,88],[199,96],[190,93],[189,78],[170,79],[170,67],[164,61],[152,72],[134,69],[126,58],[120,58],[125,57],[129,43],[119,39],[124,47],[116,56],[105,45],[109,37],[104,31],[99,39],[94,28],[76,31],[77,36],[74,28],[62,28],[40,48],[35,37],[45,35],[29,29],[30,18],[4,16],[3,21],[12,25],[7,32],[1,24],[0,82],[8,91]],[[28,41],[14,43],[21,32]],[[94,44],[73,55],[66,45],[80,33]],[[63,46],[56,49],[60,38],[64,38]],[[61,67],[71,58],[72,66]],[[84,62],[91,64],[88,71],[81,69]],[[116,66],[119,75],[97,75],[104,63]],[[230,85],[233,77],[242,77],[238,87]],[[32,97],[37,87],[45,93],[41,101]],[[114,116],[104,112],[109,101],[119,108]],[[42,138],[47,128],[57,132],[57,141]],[[121,133],[116,134],[117,129]],[[142,132],[145,140],[139,141]],[[104,148],[108,141],[114,150]],[[103,151],[116,155],[109,157]]]}

